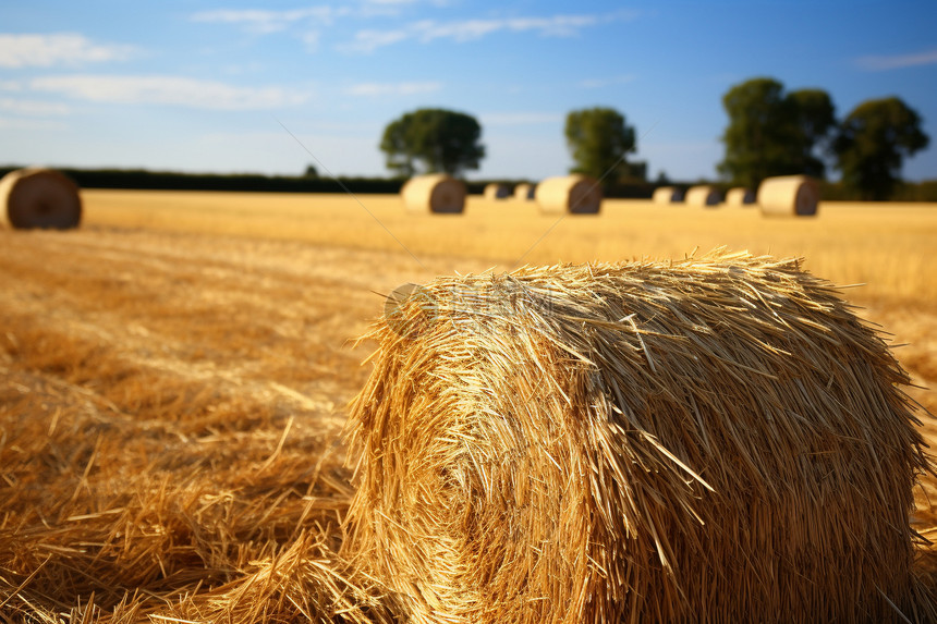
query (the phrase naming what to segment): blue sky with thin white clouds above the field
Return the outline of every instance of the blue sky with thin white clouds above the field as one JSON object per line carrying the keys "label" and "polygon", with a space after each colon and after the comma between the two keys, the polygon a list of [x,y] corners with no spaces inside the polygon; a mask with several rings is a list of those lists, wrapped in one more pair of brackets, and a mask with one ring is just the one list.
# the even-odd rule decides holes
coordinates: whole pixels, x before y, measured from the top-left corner
{"label": "blue sky with thin white clouds above the field", "polygon": [[934,144],[905,176],[937,178],[933,0],[7,2],[0,163],[297,174],[285,126],[328,171],[381,175],[385,125],[431,106],[482,122],[470,176],[539,179],[570,166],[565,113],[607,106],[652,176],[713,179],[721,96],[754,76],[840,117],[901,97]]}

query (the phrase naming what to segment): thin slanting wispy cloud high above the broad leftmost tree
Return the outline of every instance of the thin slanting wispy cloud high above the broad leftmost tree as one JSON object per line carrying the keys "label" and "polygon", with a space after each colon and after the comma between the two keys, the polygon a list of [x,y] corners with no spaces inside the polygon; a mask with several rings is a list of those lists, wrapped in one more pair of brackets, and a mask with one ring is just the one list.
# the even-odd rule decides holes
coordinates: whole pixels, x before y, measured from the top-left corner
{"label": "thin slanting wispy cloud high above the broad leftmost tree", "polygon": [[[628,16],[630,19],[630,15]],[[436,39],[457,42],[473,41],[492,33],[536,33],[541,37],[573,37],[582,29],[603,22],[619,20],[619,15],[553,15],[550,17],[504,17],[490,20],[461,20],[438,22],[421,20],[404,28],[392,30],[358,30],[354,40],[341,49],[354,52],[373,52],[377,48],[390,46],[405,39],[424,44]]]}

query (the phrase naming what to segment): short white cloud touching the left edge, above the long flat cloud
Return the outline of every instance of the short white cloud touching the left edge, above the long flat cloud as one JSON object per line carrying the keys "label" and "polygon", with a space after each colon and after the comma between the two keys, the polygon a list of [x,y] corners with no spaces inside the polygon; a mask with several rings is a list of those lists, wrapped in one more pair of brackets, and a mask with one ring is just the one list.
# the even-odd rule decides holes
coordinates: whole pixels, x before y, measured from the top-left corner
{"label": "short white cloud touching the left edge, above the long flat cloud", "polygon": [[73,33],[0,34],[0,68],[49,68],[123,61],[135,51],[133,46],[95,44]]}

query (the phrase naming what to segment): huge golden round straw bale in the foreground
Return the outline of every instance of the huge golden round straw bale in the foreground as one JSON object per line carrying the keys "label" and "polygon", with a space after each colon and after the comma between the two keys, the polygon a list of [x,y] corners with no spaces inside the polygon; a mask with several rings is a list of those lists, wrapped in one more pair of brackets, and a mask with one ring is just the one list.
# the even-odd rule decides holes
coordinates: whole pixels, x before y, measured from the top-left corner
{"label": "huge golden round straw bale in the foreground", "polygon": [[369,338],[342,553],[401,621],[935,614],[908,377],[795,260],[439,278]]}

